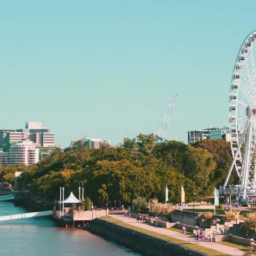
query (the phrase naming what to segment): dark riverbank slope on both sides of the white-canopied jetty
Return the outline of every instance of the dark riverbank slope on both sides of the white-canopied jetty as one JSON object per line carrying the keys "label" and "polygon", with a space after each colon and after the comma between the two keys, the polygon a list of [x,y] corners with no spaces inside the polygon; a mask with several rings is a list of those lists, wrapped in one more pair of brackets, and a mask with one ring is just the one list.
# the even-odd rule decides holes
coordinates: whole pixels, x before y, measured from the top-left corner
{"label": "dark riverbank slope on both sides of the white-canopied jetty", "polygon": [[[15,205],[25,207],[27,210],[31,211],[51,210],[54,207],[53,203],[24,195],[15,201]],[[88,231],[92,234],[108,239],[109,241],[125,246],[135,252],[141,253],[142,255],[165,256],[170,254],[170,252],[172,252],[171,255],[207,255],[188,249],[185,246],[170,243],[164,239],[143,234],[140,231],[136,231],[131,228],[115,225],[115,223],[110,222],[109,219],[110,218],[102,218],[91,221]]]}

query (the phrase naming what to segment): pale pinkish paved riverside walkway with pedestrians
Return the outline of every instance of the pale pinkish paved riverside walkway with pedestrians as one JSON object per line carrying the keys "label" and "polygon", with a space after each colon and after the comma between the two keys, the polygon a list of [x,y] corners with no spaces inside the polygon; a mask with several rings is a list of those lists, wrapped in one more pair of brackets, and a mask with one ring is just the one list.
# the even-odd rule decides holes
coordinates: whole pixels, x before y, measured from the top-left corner
{"label": "pale pinkish paved riverside walkway with pedestrians", "polygon": [[[189,242],[189,243],[194,243],[194,244],[196,243],[195,237],[193,237],[193,236],[189,236],[189,235],[183,236],[181,233],[172,231],[170,229],[165,229],[165,228],[148,225],[145,222],[144,223],[137,222],[137,220],[134,218],[131,218],[131,219],[124,218],[123,215],[119,215],[119,214],[110,214],[110,217],[119,219],[125,223],[129,223],[130,225],[135,226],[135,227],[140,227],[140,228],[154,231],[159,234],[172,236],[172,237],[181,239],[181,240]],[[244,253],[243,251],[236,249],[234,247],[230,247],[230,246],[226,246],[226,245],[222,245],[222,244],[218,244],[218,243],[214,243],[214,242],[201,242],[199,245],[213,249],[218,252],[226,253],[229,255],[241,256]]]}

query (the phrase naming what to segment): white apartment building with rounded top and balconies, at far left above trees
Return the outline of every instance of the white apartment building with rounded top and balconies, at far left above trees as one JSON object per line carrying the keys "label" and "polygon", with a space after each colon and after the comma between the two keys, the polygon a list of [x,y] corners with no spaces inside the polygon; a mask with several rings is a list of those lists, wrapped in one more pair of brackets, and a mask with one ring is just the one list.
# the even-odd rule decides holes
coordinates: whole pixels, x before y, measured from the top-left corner
{"label": "white apartment building with rounded top and balconies, at far left above trees", "polygon": [[0,164],[14,165],[36,164],[39,161],[39,149],[32,145],[31,141],[20,141],[10,147],[10,151],[1,152]]}

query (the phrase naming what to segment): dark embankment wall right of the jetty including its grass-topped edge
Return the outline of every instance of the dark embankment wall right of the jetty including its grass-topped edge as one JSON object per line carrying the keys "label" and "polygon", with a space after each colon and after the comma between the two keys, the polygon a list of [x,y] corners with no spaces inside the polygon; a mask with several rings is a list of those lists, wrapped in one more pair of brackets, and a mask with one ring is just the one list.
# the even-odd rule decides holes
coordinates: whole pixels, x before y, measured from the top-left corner
{"label": "dark embankment wall right of the jetty including its grass-topped edge", "polygon": [[93,220],[87,230],[142,255],[227,255],[199,245],[185,243],[173,237],[159,236],[159,234],[154,232],[149,234],[147,230],[132,227],[111,217]]}

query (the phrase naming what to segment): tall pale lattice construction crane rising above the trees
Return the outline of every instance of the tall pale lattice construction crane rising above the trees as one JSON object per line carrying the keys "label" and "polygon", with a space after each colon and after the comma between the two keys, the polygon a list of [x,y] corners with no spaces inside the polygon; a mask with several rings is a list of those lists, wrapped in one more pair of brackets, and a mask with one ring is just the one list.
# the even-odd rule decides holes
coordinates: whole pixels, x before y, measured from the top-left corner
{"label": "tall pale lattice construction crane rising above the trees", "polygon": [[153,128],[155,137],[157,138],[157,142],[159,142],[159,143],[163,142],[163,140],[164,140],[164,135],[167,130],[167,126],[169,124],[170,117],[171,117],[177,96],[178,96],[178,94],[173,95],[173,97],[168,105],[168,109],[166,111],[166,114],[164,116],[164,119],[163,119],[160,129],[156,130],[155,128]]}

